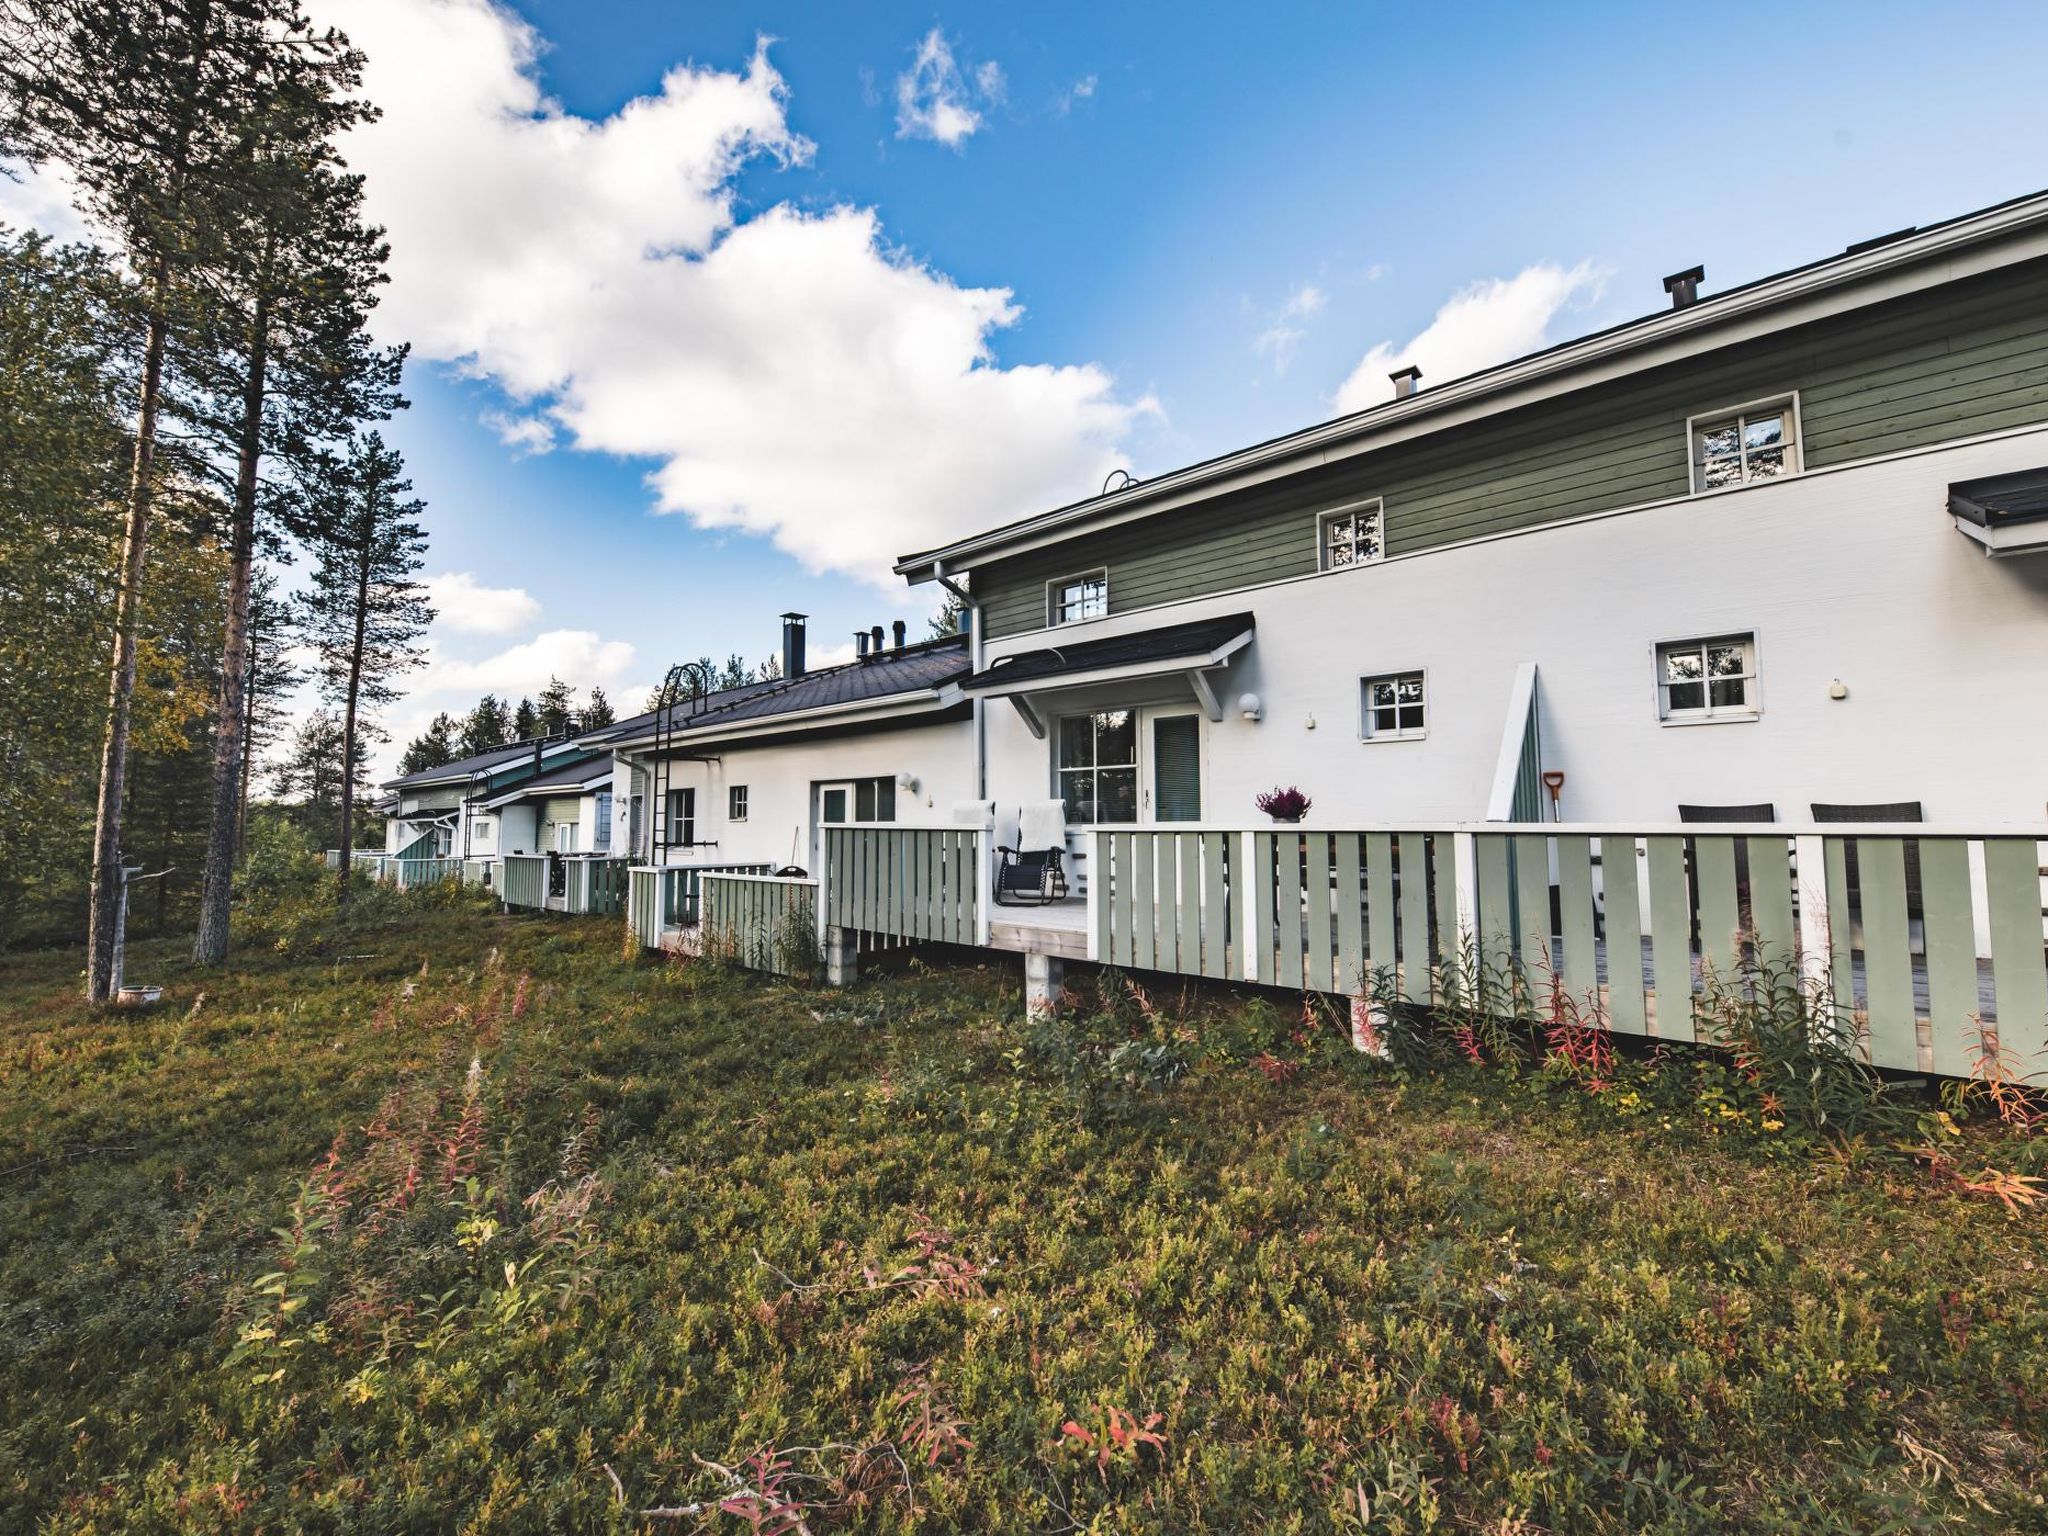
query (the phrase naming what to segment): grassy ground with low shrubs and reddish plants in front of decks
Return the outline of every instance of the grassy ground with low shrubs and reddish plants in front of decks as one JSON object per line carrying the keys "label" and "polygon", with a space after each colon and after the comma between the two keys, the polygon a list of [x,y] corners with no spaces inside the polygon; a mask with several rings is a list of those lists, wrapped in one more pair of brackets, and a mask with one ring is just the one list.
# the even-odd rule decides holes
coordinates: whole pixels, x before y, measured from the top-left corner
{"label": "grassy ground with low shrubs and reddish plants in front of decks", "polygon": [[618,950],[0,961],[0,1530],[2048,1526],[2038,1206],[1272,1004]]}

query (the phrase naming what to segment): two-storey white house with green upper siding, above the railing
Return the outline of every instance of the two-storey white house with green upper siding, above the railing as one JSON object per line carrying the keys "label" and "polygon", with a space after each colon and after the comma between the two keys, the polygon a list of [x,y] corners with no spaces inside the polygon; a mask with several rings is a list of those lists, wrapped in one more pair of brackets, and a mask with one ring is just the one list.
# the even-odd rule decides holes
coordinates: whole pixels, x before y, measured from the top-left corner
{"label": "two-storey white house with green upper siding, above the railing", "polygon": [[1700,281],[899,561],[975,618],[958,778],[1073,825],[1276,784],[1319,825],[2038,821],[2048,195]]}

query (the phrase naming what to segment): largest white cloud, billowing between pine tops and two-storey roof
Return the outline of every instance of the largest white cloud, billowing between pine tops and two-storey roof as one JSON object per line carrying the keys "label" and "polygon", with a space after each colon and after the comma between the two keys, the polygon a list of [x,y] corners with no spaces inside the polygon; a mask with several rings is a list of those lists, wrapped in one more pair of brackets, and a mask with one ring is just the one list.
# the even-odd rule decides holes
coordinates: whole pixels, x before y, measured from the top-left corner
{"label": "largest white cloud, billowing between pine tops and two-storey roof", "polygon": [[872,209],[741,219],[743,164],[811,154],[764,49],[584,119],[489,0],[330,16],[383,109],[344,145],[391,236],[379,332],[575,449],[649,459],[662,510],[893,586],[897,553],[1100,485],[1151,410],[1094,365],[999,367],[1014,295],[901,254]]}

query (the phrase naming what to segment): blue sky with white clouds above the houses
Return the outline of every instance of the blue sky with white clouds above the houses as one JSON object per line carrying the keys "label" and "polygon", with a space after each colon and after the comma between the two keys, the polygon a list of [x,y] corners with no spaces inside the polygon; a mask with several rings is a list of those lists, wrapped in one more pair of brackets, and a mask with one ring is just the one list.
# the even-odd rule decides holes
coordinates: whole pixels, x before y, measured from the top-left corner
{"label": "blue sky with white clouds above the houses", "polygon": [[418,342],[389,436],[430,569],[483,592],[401,735],[553,664],[637,705],[670,659],[766,655],[782,608],[813,647],[918,618],[889,557],[1112,463],[2048,186],[2038,2],[334,18],[387,106],[352,158]]}

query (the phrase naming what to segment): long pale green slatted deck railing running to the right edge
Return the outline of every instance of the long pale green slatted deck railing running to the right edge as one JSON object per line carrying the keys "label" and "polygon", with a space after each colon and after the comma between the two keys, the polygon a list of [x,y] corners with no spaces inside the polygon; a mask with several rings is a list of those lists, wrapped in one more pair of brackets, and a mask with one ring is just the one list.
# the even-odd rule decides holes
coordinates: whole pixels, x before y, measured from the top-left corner
{"label": "long pale green slatted deck railing running to the right edge", "polygon": [[[1614,1030],[1692,1040],[1776,969],[1870,1059],[1968,1073],[1989,1026],[2048,1079],[2048,829],[1792,825],[1094,827],[1090,954],[1411,1001],[1556,979]],[[834,901],[827,893],[827,903]]]}

